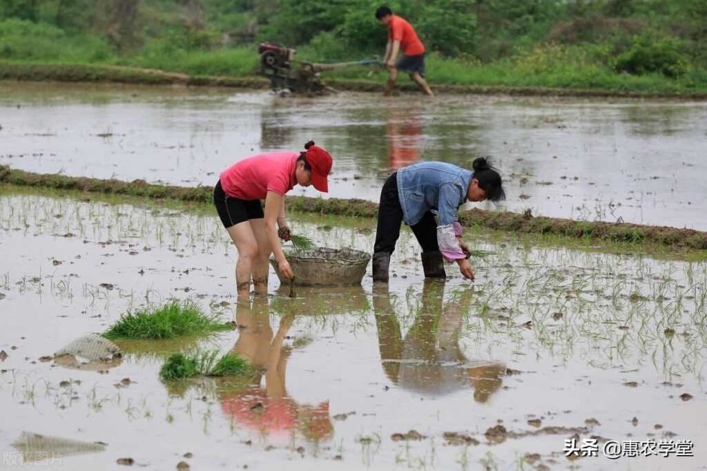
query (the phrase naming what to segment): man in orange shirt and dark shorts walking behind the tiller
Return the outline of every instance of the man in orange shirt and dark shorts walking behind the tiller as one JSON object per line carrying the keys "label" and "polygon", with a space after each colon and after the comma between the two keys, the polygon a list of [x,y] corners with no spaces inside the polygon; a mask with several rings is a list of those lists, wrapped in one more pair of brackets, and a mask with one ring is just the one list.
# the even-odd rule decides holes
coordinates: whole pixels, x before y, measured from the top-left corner
{"label": "man in orange shirt and dark shorts walking behind the tiller", "polygon": [[[420,42],[412,25],[394,15],[390,8],[381,6],[375,11],[375,18],[380,24],[388,27],[388,43],[385,46],[385,62],[390,69],[390,79],[385,86],[385,95],[395,89],[397,71],[402,70],[410,74],[410,78],[422,88],[426,95],[434,95],[425,81],[425,47]],[[398,52],[402,49],[402,57],[396,63]]]}

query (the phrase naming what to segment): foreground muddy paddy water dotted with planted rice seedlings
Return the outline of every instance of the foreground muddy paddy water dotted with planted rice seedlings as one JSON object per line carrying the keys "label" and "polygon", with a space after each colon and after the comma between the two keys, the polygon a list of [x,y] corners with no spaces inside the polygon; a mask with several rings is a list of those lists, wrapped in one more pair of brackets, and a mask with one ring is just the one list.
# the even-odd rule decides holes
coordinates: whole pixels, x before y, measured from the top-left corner
{"label": "foreground muddy paddy water dotted with planted rice seedlings", "polygon": [[[334,219],[293,228],[331,247],[368,250],[373,237]],[[120,458],[146,469],[704,468],[706,264],[474,243],[496,254],[474,263],[474,283],[452,269],[426,283],[406,231],[387,288],[369,275],[291,299],[271,274],[270,296],[239,305],[235,250],[214,216],[4,194],[3,467],[34,457],[74,470]],[[122,359],[101,371],[40,359],[171,296],[238,327],[119,342]],[[238,352],[260,375],[158,379],[168,353],[196,349]],[[506,434],[487,434],[499,425]],[[25,442],[11,444],[23,431],[81,446],[22,455]],[[695,456],[569,461],[572,436],[690,440]]]}

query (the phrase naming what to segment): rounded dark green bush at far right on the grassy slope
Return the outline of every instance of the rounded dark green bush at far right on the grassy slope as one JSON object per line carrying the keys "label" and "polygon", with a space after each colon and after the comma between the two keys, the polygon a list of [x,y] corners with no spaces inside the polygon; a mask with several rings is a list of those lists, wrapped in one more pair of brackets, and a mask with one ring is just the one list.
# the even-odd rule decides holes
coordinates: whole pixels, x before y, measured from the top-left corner
{"label": "rounded dark green bush at far right on the grassy slope", "polygon": [[660,72],[676,78],[689,71],[689,59],[679,51],[673,37],[658,40],[653,33],[633,36],[631,49],[614,60],[614,70],[633,75]]}

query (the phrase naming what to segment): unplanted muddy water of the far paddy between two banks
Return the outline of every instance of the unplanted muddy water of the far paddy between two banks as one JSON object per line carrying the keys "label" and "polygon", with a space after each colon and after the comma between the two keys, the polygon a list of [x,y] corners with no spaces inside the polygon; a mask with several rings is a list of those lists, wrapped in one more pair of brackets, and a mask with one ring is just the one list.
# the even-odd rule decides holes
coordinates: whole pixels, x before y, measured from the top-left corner
{"label": "unplanted muddy water of the far paddy between two banks", "polygon": [[491,155],[501,208],[707,229],[705,103],[0,83],[0,125],[0,163],[176,185],[315,139],[336,161],[331,196],[374,201],[395,168]]}

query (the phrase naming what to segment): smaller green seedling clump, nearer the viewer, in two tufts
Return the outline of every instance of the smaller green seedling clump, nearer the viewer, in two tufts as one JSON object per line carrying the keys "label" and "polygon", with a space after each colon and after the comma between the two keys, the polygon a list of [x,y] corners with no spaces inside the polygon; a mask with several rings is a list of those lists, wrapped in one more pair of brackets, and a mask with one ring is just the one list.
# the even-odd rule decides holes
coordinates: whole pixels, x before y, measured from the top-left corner
{"label": "smaller green seedling clump, nearer the viewer, in two tufts", "polygon": [[218,351],[206,351],[192,356],[173,354],[160,368],[162,379],[194,376],[255,376],[255,368],[237,354],[225,354],[218,358]]}

